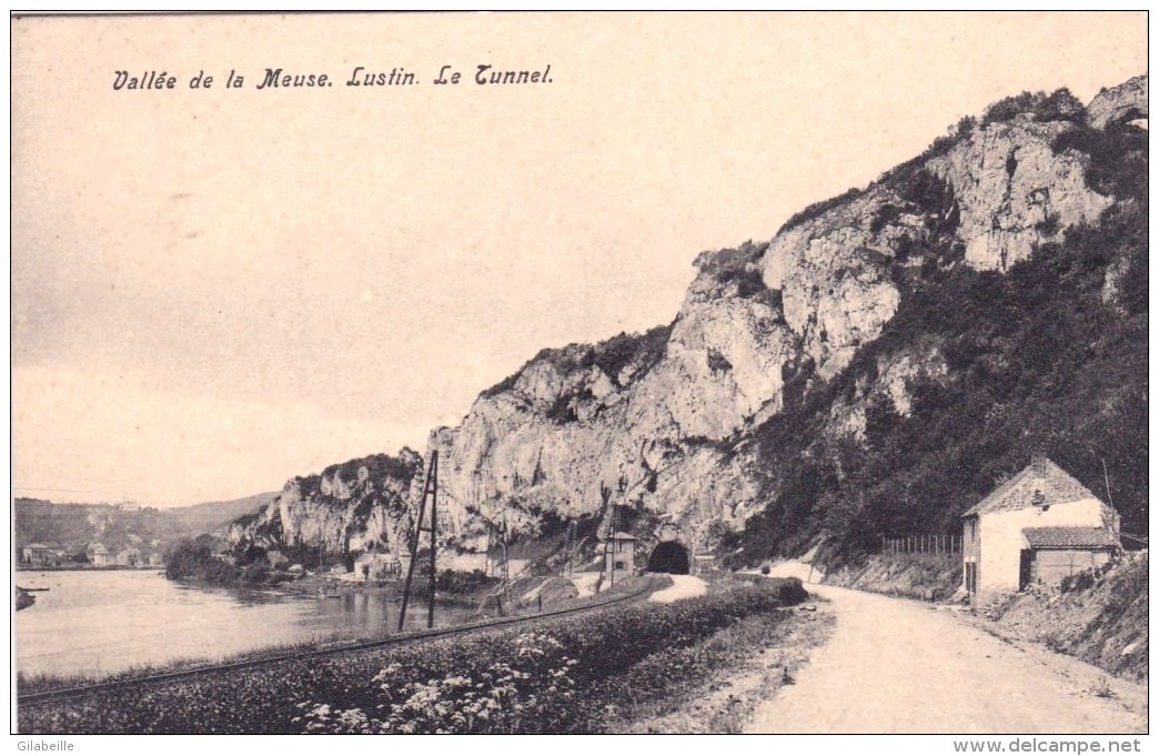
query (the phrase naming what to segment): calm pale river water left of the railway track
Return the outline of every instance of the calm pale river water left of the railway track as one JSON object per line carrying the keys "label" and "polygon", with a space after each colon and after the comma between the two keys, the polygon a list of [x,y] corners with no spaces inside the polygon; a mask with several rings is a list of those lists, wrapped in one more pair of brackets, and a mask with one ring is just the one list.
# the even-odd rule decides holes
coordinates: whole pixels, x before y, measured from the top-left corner
{"label": "calm pale river water left of the railway track", "polygon": [[[275,588],[201,588],[156,570],[16,573],[36,603],[16,612],[16,669],[23,675],[99,676],[176,660],[217,660],[312,640],[395,632],[399,604],[374,593],[291,594]],[[436,604],[436,626],[473,610]],[[427,604],[407,608],[407,630],[427,626]]]}

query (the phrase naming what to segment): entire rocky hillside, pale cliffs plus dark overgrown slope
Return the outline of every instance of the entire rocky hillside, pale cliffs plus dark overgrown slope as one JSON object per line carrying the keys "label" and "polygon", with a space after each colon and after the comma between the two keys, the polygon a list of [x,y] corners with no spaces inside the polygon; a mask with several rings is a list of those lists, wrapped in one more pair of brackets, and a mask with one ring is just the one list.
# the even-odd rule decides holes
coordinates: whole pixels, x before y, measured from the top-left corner
{"label": "entire rocky hillside, pale cliffs plus dark overgrown slope", "polygon": [[[953,531],[1032,445],[1092,487],[1106,463],[1144,530],[1147,153],[1128,122],[1145,95],[1143,77],[1088,108],[1065,89],[996,103],[771,240],[701,254],[672,324],[540,351],[431,434],[445,545],[619,506],[646,548],[840,561]],[[372,523],[366,481],[325,473],[330,493],[291,481],[261,521],[393,550],[404,479],[374,482]]]}

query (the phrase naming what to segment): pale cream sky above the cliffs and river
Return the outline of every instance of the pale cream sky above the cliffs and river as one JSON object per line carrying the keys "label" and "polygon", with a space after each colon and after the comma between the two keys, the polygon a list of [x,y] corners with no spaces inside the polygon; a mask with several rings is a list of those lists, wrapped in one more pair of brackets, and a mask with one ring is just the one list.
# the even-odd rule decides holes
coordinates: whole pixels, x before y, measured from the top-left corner
{"label": "pale cream sky above the cliffs and river", "polygon": [[[12,43],[15,494],[161,506],[423,450],[540,348],[671,321],[698,253],[999,97],[1146,71],[1144,13],[23,19]],[[334,86],[257,90],[267,67]]]}

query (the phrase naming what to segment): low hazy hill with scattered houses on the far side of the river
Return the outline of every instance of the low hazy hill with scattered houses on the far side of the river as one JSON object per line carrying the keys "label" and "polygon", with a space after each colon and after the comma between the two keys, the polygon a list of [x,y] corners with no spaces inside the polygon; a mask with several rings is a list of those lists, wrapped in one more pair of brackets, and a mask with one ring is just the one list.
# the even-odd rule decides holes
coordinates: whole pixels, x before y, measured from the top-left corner
{"label": "low hazy hill with scattered houses on the far side of the river", "polygon": [[13,545],[20,548],[38,543],[75,552],[90,543],[102,543],[114,552],[127,546],[163,551],[180,538],[225,531],[232,521],[256,511],[275,496],[258,494],[174,509],[16,499]]}

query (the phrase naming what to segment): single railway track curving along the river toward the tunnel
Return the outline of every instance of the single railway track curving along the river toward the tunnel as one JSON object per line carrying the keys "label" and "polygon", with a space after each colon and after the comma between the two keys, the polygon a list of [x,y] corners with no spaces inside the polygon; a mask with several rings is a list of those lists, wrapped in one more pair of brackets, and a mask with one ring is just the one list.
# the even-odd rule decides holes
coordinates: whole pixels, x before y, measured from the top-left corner
{"label": "single railway track curving along the river toward the tunnel", "polygon": [[593,602],[591,604],[584,604],[581,606],[569,606],[567,609],[557,609],[555,611],[547,611],[538,615],[527,615],[523,617],[503,617],[498,619],[468,623],[465,625],[454,625],[452,627],[440,627],[437,630],[400,633],[398,635],[391,635],[387,638],[379,638],[376,640],[367,640],[367,641],[357,641],[352,644],[343,644],[341,646],[311,648],[307,650],[298,650],[289,654],[262,656],[260,659],[247,659],[242,661],[226,662],[221,664],[206,664],[204,667],[196,667],[192,669],[182,669],[172,673],[161,673],[158,675],[143,675],[139,677],[127,677],[124,679],[108,681],[103,683],[93,683],[90,685],[78,685],[74,688],[58,688],[56,690],[39,691],[36,693],[25,693],[23,696],[17,693],[16,705],[19,707],[24,708],[24,707],[36,706],[37,704],[42,703],[58,702],[68,698],[81,698],[85,696],[89,696],[92,693],[117,690],[121,688],[140,688],[143,685],[170,683],[181,679],[198,677],[202,675],[210,675],[213,673],[233,671],[239,669],[254,669],[257,667],[262,667],[264,664],[276,664],[279,662],[293,661],[299,659],[336,656],[338,654],[348,654],[351,652],[365,650],[371,648],[382,648],[386,646],[402,646],[406,644],[414,644],[424,640],[430,640],[432,638],[449,638],[453,635],[464,635],[466,633],[476,632],[480,630],[490,630],[493,627],[505,627],[505,626],[519,625],[523,623],[551,619],[553,617],[580,615],[583,612],[596,611],[598,609],[613,606],[615,604],[624,604],[632,601],[639,601],[653,591],[654,583],[655,580],[653,577],[648,577],[648,582],[644,583],[643,588],[641,588],[635,593],[626,594],[624,596],[617,596],[607,601]]}

